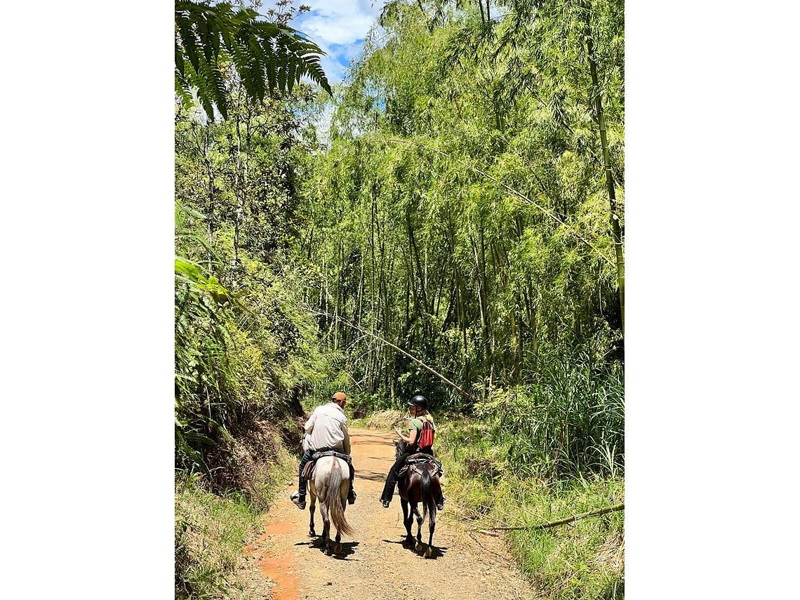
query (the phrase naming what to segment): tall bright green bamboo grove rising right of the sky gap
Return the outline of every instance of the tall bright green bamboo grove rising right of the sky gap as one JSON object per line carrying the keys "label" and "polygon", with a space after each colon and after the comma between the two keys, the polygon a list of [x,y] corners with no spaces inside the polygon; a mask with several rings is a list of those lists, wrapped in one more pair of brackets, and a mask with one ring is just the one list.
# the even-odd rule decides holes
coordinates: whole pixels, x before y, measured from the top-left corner
{"label": "tall bright green bamboo grove rising right of the sky gap", "polygon": [[621,370],[624,4],[390,2],[380,24],[299,240],[362,394],[472,403],[363,330],[479,398],[541,382],[549,357]]}

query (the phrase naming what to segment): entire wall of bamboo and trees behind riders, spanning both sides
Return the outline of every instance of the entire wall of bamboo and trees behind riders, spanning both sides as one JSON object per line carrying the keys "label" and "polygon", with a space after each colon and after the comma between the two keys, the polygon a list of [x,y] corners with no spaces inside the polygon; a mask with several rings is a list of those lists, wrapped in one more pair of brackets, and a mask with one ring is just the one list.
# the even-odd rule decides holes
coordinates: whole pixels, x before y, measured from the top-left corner
{"label": "entire wall of bamboo and trees behind riders, spanning both sides", "polygon": [[422,392],[551,473],[624,466],[624,24],[398,0],[333,98],[260,102],[224,54],[224,120],[176,96],[176,465],[340,388]]}

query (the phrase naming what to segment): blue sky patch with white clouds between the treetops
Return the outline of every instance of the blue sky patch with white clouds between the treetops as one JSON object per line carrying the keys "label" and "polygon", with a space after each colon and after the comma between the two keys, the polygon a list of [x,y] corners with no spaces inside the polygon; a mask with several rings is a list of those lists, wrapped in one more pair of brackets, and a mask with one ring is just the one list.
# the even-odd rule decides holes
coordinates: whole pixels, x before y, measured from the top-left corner
{"label": "blue sky patch with white clouds between the treetops", "polygon": [[[298,0],[307,13],[289,25],[302,31],[327,54],[322,69],[331,85],[342,82],[350,60],[361,54],[364,38],[380,14],[385,0]],[[264,3],[267,6],[267,2]]]}

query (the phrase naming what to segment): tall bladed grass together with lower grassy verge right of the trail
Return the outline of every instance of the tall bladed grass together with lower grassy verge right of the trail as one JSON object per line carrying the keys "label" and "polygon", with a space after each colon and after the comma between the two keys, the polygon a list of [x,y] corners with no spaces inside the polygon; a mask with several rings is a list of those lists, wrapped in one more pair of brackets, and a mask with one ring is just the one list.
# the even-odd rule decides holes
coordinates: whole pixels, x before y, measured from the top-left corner
{"label": "tall bladed grass together with lower grassy verge right of the trail", "polygon": [[625,513],[533,526],[625,501],[625,378],[586,354],[551,354],[531,386],[495,390],[475,418],[438,421],[448,510],[510,530],[542,598],[625,597]]}

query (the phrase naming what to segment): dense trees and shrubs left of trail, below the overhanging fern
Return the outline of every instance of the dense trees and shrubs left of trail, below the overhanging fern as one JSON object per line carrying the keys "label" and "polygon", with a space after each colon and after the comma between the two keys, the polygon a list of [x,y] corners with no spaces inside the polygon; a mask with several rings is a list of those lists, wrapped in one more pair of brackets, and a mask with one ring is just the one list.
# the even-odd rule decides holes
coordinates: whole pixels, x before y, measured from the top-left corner
{"label": "dense trees and shrubs left of trail, below the overhanging fern", "polygon": [[294,413],[328,362],[298,306],[309,268],[291,249],[294,172],[308,152],[294,114],[241,102],[235,83],[227,93],[229,121],[178,108],[175,122],[175,460],[186,468],[206,469],[236,426]]}

